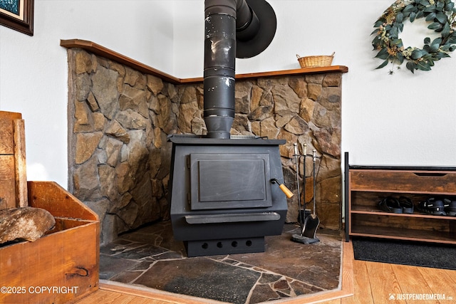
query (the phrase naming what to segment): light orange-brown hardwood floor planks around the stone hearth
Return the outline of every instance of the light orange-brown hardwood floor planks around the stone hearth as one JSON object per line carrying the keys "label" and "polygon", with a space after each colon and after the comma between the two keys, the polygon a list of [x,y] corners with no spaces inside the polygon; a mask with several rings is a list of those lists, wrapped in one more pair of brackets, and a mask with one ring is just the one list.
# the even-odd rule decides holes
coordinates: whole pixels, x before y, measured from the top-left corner
{"label": "light orange-brown hardwood floor planks around the stone hearth", "polygon": [[[454,303],[456,271],[438,268],[403,266],[388,263],[356,261],[350,243],[343,246],[341,290],[306,298],[281,301],[287,304],[368,304],[368,303]],[[100,289],[77,304],[123,303],[219,303],[184,295],[150,292],[143,288],[100,283]]]}

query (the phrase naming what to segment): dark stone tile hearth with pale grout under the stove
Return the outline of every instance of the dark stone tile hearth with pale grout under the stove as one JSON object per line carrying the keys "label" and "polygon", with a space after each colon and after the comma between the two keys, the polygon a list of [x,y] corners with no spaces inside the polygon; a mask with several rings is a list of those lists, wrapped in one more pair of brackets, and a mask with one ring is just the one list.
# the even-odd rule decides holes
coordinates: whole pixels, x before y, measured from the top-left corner
{"label": "dark stone tile hearth with pale grout under the stove", "polygon": [[100,248],[100,279],[227,303],[253,304],[340,289],[341,236],[318,231],[320,242],[266,236],[264,253],[187,258],[170,221],[130,231]]}

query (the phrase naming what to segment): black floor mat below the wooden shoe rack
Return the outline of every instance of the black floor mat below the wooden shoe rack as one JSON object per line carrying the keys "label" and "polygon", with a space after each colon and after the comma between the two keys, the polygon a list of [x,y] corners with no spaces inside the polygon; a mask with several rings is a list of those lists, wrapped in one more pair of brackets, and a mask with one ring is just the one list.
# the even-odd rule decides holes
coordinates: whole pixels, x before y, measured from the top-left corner
{"label": "black floor mat below the wooden shoe rack", "polygon": [[456,270],[456,246],[353,238],[356,260]]}

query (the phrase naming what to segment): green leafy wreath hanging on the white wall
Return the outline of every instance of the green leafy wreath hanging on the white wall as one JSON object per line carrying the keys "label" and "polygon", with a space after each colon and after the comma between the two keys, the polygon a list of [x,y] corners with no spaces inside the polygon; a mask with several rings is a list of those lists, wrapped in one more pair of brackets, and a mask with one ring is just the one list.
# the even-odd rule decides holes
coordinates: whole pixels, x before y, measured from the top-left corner
{"label": "green leafy wreath hanging on the white wall", "polygon": [[[425,18],[430,21],[430,28],[440,33],[439,38],[430,41],[424,39],[423,48],[404,48],[399,33],[403,31],[403,21]],[[456,46],[456,8],[452,0],[397,0],[392,4],[374,24],[375,35],[372,45],[379,52],[375,58],[383,59],[377,68],[383,68],[388,63],[400,65],[406,60],[406,67],[412,73],[415,70],[430,70],[435,61],[450,57]],[[393,70],[390,70],[393,74]]]}

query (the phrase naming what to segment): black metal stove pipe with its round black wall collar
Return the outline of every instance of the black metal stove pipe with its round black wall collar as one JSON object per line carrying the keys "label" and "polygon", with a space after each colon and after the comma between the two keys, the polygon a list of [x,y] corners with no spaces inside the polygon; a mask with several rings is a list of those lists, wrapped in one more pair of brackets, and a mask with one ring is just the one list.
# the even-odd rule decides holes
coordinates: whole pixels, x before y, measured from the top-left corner
{"label": "black metal stove pipe with its round black wall collar", "polygon": [[[261,31],[262,19],[252,9],[255,7],[265,11],[266,31]],[[205,0],[204,14],[204,122],[207,137],[229,139],[234,120],[237,41],[243,46],[243,58],[256,56],[271,43],[276,19],[264,0]]]}

